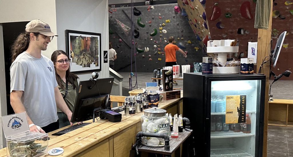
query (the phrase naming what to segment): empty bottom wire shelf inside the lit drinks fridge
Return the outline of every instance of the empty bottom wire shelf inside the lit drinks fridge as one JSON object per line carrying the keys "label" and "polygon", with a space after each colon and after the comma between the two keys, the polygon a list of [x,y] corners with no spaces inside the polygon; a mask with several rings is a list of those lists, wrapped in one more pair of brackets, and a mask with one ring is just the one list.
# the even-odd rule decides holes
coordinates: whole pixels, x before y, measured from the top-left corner
{"label": "empty bottom wire shelf inside the lit drinks fridge", "polygon": [[211,145],[211,157],[253,157],[232,145]]}

